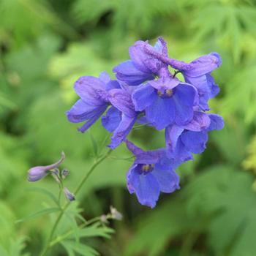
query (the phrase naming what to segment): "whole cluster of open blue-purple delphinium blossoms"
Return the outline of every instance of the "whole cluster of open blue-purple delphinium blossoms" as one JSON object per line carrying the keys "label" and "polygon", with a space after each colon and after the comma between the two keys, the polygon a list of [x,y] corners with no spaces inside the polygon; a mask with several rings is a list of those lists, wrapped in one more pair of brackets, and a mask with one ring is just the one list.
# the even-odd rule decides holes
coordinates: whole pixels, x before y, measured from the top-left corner
{"label": "whole cluster of open blue-purple delphinium blossoms", "polygon": [[[211,72],[222,60],[218,53],[190,63],[170,59],[162,37],[153,46],[138,41],[129,48],[130,60],[113,68],[116,80],[106,72],[99,78],[83,76],[75,82],[80,97],[67,111],[72,123],[86,132],[102,115],[102,126],[112,132],[110,148],[122,142],[135,156],[127,173],[127,187],[141,204],[153,208],[159,193],[179,188],[175,170],[206,148],[208,132],[222,129],[221,116],[207,113],[208,99],[219,93]],[[170,72],[169,66],[175,69]],[[184,82],[176,78],[181,72]],[[127,140],[135,123],[165,129],[165,148],[143,151]]]}

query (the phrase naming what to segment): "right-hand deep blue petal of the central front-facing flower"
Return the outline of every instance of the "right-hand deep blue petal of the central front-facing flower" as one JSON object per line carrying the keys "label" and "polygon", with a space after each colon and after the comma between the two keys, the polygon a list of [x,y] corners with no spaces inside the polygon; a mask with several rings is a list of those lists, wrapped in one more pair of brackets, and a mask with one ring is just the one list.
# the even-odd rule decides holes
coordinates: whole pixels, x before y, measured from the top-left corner
{"label": "right-hand deep blue petal of the central front-facing flower", "polygon": [[186,83],[176,86],[173,101],[175,102],[175,122],[178,125],[188,124],[193,117],[193,105],[196,89]]}

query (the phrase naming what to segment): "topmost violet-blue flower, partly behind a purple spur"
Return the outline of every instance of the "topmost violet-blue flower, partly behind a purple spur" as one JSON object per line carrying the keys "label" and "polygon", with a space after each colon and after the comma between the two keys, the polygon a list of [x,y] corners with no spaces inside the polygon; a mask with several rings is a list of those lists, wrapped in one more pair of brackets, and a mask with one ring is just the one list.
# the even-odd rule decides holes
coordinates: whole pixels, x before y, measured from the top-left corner
{"label": "topmost violet-blue flower, partly behind a purple spur", "polygon": [[126,82],[129,86],[138,86],[147,80],[153,80],[162,67],[166,67],[159,59],[145,53],[144,48],[167,56],[166,42],[159,37],[157,43],[152,47],[148,42],[138,41],[129,48],[131,60],[124,61],[113,68],[118,80]]}

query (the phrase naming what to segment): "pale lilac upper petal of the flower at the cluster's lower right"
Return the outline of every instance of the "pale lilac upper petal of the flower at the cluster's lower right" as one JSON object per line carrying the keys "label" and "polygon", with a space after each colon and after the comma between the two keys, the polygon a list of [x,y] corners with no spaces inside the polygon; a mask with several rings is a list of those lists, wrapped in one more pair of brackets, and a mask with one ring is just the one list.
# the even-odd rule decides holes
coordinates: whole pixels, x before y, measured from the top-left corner
{"label": "pale lilac upper petal of the flower at the cluster's lower right", "polygon": [[188,129],[193,132],[200,132],[203,129],[206,129],[210,123],[211,119],[207,113],[195,111],[192,121],[185,125],[184,129]]}

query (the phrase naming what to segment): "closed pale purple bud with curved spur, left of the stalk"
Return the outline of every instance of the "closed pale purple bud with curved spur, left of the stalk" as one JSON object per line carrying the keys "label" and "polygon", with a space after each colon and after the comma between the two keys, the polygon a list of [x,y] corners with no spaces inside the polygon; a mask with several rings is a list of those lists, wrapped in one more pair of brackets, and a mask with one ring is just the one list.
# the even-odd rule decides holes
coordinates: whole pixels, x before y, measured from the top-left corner
{"label": "closed pale purple bud with curved spur, left of the stalk", "polygon": [[52,164],[52,165],[45,165],[45,166],[36,166],[29,169],[28,173],[28,181],[39,181],[40,179],[47,176],[50,172],[50,170],[55,169],[58,167],[61,162],[63,162],[65,159],[64,152],[61,153],[61,159],[59,159],[58,162]]}

